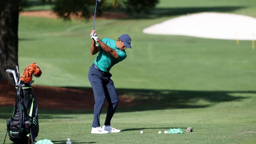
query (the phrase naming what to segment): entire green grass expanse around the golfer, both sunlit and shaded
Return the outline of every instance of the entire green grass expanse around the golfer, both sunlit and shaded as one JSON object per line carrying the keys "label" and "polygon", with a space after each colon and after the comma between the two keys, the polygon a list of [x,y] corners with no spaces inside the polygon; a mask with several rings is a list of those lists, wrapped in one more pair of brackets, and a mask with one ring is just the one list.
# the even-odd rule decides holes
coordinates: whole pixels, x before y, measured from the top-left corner
{"label": "entire green grass expanse around the golfer, both sunlit and shaded", "polygon": [[[92,110],[39,108],[39,135],[66,143],[255,143],[256,51],[252,41],[143,34],[142,29],[188,12],[226,12],[256,16],[252,0],[234,2],[160,0],[144,19],[96,19],[100,39],[132,38],[127,58],[111,69],[117,92],[137,105],[117,108],[111,121],[120,133],[90,134]],[[20,16],[19,65],[36,62],[42,69],[35,85],[90,88],[88,69],[93,20]],[[36,95],[35,95],[36,97]],[[71,96],[72,97],[72,96]],[[86,103],[86,101],[81,101]],[[68,101],[67,101],[68,105]],[[12,108],[0,108],[0,140]],[[105,120],[106,109],[101,114]],[[193,132],[185,132],[193,127]],[[164,134],[181,128],[184,134]],[[143,131],[143,134],[140,134]],[[161,134],[158,134],[161,131]],[[6,144],[12,143],[8,136]]]}

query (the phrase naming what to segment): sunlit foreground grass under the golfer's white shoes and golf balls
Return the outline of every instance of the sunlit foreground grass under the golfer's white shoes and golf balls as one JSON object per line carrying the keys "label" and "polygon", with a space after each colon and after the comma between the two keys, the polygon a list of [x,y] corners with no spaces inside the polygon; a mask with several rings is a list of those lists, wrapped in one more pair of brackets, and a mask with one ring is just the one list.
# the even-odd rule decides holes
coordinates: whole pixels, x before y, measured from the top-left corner
{"label": "sunlit foreground grass under the golfer's white shoes and golf balls", "polygon": [[[244,99],[218,102],[207,108],[145,111],[128,108],[131,112],[117,111],[112,120],[122,132],[106,135],[90,134],[92,111],[41,109],[40,132],[36,140],[47,138],[54,143],[65,143],[69,137],[73,143],[252,143],[256,128],[255,97]],[[7,119],[10,115],[7,111],[11,110],[1,108],[1,117]],[[105,115],[103,112],[101,119]],[[5,127],[4,121],[0,121],[1,127]],[[185,132],[189,126],[194,132]],[[158,134],[158,131],[169,128],[181,128],[185,133]],[[140,131],[144,133],[140,134]],[[3,135],[5,130],[0,132]]]}

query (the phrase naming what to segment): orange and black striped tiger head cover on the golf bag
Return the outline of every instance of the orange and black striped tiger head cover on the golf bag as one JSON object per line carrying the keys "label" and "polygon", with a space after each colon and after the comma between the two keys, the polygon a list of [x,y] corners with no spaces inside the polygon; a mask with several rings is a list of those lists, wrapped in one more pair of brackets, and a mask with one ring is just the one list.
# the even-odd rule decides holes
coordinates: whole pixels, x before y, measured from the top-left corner
{"label": "orange and black striped tiger head cover on the golf bag", "polygon": [[41,69],[38,67],[36,62],[33,62],[24,69],[22,75],[20,76],[20,80],[26,84],[29,84],[33,78],[33,75],[39,77],[41,74]]}

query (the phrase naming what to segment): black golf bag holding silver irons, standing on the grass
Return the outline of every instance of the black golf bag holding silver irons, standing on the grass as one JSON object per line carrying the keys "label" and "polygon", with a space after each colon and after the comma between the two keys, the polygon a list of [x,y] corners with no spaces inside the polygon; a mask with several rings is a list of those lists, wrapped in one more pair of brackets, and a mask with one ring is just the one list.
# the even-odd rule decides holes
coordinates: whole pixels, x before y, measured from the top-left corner
{"label": "black golf bag holding silver irons, standing on the grass", "polygon": [[6,73],[10,74],[12,78],[11,83],[16,88],[16,98],[12,115],[9,120],[6,120],[7,133],[9,134],[10,140],[15,144],[34,144],[36,143],[35,138],[39,132],[39,125],[37,101],[34,98],[31,87],[33,81],[29,84],[23,83],[20,80],[18,66],[16,66],[16,70],[18,76],[16,76],[15,70],[6,70]]}

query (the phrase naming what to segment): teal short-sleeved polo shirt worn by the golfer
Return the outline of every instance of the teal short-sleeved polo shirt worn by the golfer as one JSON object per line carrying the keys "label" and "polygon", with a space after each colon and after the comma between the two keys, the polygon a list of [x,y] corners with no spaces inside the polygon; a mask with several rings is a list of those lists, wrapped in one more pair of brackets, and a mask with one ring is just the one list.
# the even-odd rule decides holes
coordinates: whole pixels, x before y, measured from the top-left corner
{"label": "teal short-sleeved polo shirt worn by the golfer", "polygon": [[98,44],[100,52],[98,53],[96,60],[94,60],[94,64],[100,68],[100,70],[109,72],[115,64],[126,58],[126,53],[116,47],[116,41],[113,39],[103,38],[101,41],[117,52],[117,59],[115,59],[108,52],[105,52]]}

